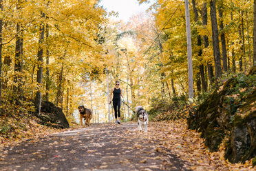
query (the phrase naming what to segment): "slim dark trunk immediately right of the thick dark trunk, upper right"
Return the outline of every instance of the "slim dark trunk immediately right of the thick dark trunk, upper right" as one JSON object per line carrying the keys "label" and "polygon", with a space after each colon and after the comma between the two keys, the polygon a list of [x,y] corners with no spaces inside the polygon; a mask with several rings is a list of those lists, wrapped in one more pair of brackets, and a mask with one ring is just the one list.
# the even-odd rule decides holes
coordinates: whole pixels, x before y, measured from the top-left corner
{"label": "slim dark trunk immediately right of the thick dark trunk, upper right", "polygon": [[220,39],[222,41],[222,61],[223,61],[223,70],[224,72],[228,71],[227,66],[227,55],[226,55],[226,39],[224,33],[224,24],[223,24],[223,1],[220,1],[220,8],[219,8],[219,17],[220,17]]}

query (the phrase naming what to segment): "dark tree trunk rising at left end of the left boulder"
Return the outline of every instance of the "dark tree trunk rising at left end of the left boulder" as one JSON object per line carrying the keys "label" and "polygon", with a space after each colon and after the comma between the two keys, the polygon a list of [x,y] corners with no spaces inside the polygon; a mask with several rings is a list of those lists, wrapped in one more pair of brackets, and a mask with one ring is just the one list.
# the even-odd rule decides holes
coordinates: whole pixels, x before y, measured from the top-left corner
{"label": "dark tree trunk rising at left end of the left boulder", "polygon": [[[45,14],[41,12],[42,17],[45,17]],[[37,77],[36,81],[39,83],[39,85],[42,84],[42,79],[43,79],[43,48],[42,48],[42,43],[44,40],[44,34],[45,34],[45,26],[43,23],[41,23],[40,26],[40,38],[39,38],[39,50],[37,52],[37,61],[38,61],[38,66],[37,66]],[[41,91],[38,90],[36,92],[36,99],[35,99],[35,105],[36,105],[36,114],[40,116],[40,111],[41,111],[41,103],[42,103],[42,94]]]}

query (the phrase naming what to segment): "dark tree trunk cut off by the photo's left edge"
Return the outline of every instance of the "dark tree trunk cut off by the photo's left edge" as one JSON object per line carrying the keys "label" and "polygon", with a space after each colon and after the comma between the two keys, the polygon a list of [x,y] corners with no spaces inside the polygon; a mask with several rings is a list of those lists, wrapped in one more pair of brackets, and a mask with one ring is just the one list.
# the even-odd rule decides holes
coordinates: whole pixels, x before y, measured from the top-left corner
{"label": "dark tree trunk cut off by the photo's left edge", "polygon": [[[3,10],[3,0],[0,0],[0,12],[2,12]],[[2,104],[2,98],[1,98],[1,94],[2,94],[2,48],[3,48],[3,19],[0,19],[0,107]]]}

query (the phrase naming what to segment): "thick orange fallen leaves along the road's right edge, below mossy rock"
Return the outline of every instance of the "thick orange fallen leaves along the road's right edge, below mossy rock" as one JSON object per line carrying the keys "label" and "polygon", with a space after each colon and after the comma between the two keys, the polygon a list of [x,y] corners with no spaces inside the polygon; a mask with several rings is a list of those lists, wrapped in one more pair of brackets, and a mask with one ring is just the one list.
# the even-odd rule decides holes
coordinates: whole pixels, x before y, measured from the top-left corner
{"label": "thick orange fallen leaves along the road's right edge, below mossy rock", "polygon": [[184,120],[150,123],[147,136],[159,142],[157,152],[175,154],[186,161],[185,167],[191,170],[255,170],[251,161],[245,164],[229,163],[224,159],[224,149],[210,152],[204,146],[200,133],[187,130]]}

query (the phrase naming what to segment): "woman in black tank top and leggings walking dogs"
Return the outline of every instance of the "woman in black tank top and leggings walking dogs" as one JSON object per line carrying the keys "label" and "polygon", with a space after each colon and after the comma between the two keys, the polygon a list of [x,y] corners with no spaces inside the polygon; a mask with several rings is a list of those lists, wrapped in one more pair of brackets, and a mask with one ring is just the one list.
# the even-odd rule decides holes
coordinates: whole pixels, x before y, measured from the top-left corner
{"label": "woman in black tank top and leggings walking dogs", "polygon": [[[120,106],[121,106],[121,97],[122,97],[122,90],[119,88],[120,82],[116,81],[116,87],[113,88],[110,92],[109,99],[111,99],[112,93],[113,95],[113,107],[115,110],[115,118],[116,123],[120,124]],[[124,97],[122,97],[124,98]],[[111,101],[110,101],[111,103]]]}

